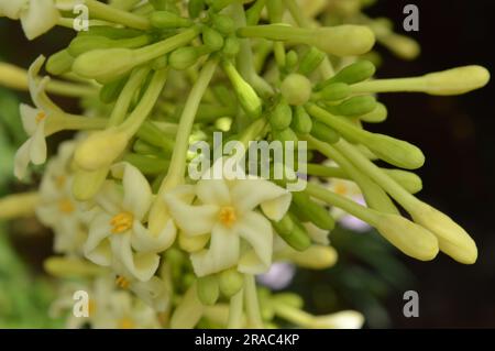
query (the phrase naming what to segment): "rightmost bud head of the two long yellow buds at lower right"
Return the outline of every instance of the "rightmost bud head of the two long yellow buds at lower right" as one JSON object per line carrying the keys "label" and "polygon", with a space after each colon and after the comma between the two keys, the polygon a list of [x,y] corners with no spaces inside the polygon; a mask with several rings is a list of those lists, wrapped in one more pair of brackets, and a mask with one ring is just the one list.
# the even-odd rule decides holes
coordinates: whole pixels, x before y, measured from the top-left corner
{"label": "rightmost bud head of the two long yellow buds at lower right", "polygon": [[425,202],[418,204],[409,212],[415,222],[427,228],[437,237],[442,252],[460,263],[473,264],[476,262],[476,243],[449,216]]}

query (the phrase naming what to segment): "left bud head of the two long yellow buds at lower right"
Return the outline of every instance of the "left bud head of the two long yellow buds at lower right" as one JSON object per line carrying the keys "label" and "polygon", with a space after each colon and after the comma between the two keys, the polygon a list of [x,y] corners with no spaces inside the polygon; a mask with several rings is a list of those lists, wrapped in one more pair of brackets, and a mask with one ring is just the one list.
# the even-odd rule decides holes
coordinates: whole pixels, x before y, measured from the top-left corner
{"label": "left bud head of the two long yellow buds at lower right", "polygon": [[436,235],[404,217],[382,213],[376,230],[408,256],[430,261],[438,254],[439,242]]}

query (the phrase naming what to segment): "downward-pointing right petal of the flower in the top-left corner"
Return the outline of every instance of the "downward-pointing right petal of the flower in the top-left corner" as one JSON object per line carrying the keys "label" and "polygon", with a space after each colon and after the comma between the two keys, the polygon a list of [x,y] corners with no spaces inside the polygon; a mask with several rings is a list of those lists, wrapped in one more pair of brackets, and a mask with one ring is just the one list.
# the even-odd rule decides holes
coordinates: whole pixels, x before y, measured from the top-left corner
{"label": "downward-pointing right petal of the flower in the top-left corner", "polygon": [[44,34],[54,28],[61,14],[53,0],[30,1],[29,9],[21,12],[21,24],[29,40]]}

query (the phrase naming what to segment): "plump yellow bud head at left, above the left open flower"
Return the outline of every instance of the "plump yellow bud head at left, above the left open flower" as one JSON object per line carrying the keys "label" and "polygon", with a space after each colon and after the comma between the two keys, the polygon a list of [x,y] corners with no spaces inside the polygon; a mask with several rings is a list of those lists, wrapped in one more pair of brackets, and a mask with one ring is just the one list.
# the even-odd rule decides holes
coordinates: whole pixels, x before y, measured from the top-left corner
{"label": "plump yellow bud head at left, above the left open flower", "polygon": [[116,129],[90,134],[76,147],[74,160],[85,171],[98,171],[110,166],[125,150],[129,136]]}

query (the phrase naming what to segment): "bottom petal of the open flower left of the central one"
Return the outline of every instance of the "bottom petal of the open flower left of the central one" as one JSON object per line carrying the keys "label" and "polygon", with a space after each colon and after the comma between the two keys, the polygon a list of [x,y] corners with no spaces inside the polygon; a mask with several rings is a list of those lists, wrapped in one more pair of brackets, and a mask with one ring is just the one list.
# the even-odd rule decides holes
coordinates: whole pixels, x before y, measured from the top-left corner
{"label": "bottom petal of the open flower left of the central one", "polygon": [[131,232],[110,238],[114,256],[141,282],[148,281],[158,268],[160,256],[155,253],[134,253],[131,248]]}

